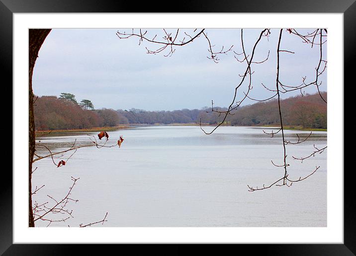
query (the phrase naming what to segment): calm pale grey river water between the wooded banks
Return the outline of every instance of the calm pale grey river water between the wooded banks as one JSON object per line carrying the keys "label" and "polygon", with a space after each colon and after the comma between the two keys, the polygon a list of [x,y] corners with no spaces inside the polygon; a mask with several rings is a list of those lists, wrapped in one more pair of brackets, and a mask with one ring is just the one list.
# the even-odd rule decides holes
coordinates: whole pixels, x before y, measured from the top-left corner
{"label": "calm pale grey river water between the wooded banks", "polygon": [[[210,130],[211,127],[206,127]],[[327,132],[313,131],[302,144],[287,145],[288,178],[297,180],[318,171],[291,187],[272,186],[249,192],[248,186],[268,186],[283,177],[282,138],[263,132],[277,128],[220,127],[205,135],[196,126],[151,126],[110,131],[106,145],[121,148],[84,147],[57,168],[52,159],[34,163],[32,187],[40,189],[33,200],[48,207],[49,196],[62,199],[73,181],[68,209],[73,218],[52,222],[51,227],[78,227],[103,219],[104,227],[325,227],[327,226],[327,151],[301,163],[304,157],[327,144]],[[96,136],[97,132],[88,133]],[[296,133],[285,130],[286,139],[296,141]],[[86,133],[39,137],[37,142],[53,152],[76,144],[87,144]],[[102,142],[101,142],[102,143]],[[45,155],[43,147],[38,154]],[[54,158],[58,163],[73,151]],[[60,216],[59,216],[60,215]],[[66,214],[46,215],[62,219]],[[47,226],[38,220],[36,226]],[[98,224],[96,224],[98,226]],[[99,224],[101,226],[101,224]]]}

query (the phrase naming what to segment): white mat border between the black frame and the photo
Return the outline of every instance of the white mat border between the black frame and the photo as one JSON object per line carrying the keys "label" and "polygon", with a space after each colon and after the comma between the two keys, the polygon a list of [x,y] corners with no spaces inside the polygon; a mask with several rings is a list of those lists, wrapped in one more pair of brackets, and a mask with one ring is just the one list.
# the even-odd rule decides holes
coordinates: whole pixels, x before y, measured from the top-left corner
{"label": "white mat border between the black frame and the photo", "polygon": [[[27,228],[28,28],[328,28],[326,228]],[[343,243],[343,14],[13,15],[13,243]],[[332,107],[331,107],[332,106]]]}

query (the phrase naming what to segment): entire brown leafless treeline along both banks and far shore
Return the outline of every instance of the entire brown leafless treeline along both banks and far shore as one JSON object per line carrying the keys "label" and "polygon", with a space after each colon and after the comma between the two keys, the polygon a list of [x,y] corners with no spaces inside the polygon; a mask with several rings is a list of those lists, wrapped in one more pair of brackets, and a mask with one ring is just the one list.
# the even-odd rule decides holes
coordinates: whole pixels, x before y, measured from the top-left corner
{"label": "entire brown leafless treeline along both banks and far shore", "polygon": [[[327,99],[327,93],[322,93]],[[327,128],[327,105],[319,94],[295,96],[281,100],[283,123],[304,128]],[[216,110],[216,107],[214,107]],[[224,111],[226,108],[217,108]],[[119,124],[172,124],[199,123],[214,125],[223,115],[211,112],[211,108],[182,109],[175,111],[130,110],[87,110],[67,99],[56,96],[38,97],[35,106],[36,129],[73,129],[112,127]],[[207,113],[208,112],[208,113]],[[273,99],[253,105],[239,107],[226,119],[226,125],[278,125],[278,102]]]}

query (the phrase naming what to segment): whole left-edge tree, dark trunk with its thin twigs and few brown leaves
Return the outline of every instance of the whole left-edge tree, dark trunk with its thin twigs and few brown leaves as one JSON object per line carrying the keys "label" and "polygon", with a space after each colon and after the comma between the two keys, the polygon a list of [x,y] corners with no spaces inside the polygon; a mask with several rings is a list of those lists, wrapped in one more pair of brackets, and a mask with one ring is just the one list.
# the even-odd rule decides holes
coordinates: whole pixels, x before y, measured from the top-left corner
{"label": "whole left-edge tree, dark trunk with its thin twigs and few brown leaves", "polygon": [[[40,187],[35,187],[35,189],[32,191],[32,175],[33,173],[37,170],[37,167],[33,169],[33,163],[36,161],[39,161],[41,159],[45,158],[51,158],[52,162],[55,166],[62,167],[68,163],[68,160],[77,152],[79,148],[82,147],[92,147],[95,146],[97,148],[102,148],[102,147],[114,147],[118,146],[117,143],[113,145],[106,145],[107,143],[107,138],[108,134],[105,132],[105,137],[106,140],[104,142],[98,142],[96,140],[96,137],[93,135],[89,135],[89,142],[88,144],[84,145],[77,145],[77,140],[74,141],[73,145],[66,149],[62,150],[59,152],[52,152],[49,147],[47,147],[43,143],[36,143],[35,137],[36,137],[36,132],[35,132],[35,124],[34,124],[34,112],[33,112],[33,106],[36,101],[34,99],[34,94],[32,90],[32,74],[33,74],[33,68],[36,62],[36,59],[38,57],[38,52],[46,39],[47,35],[50,33],[51,29],[30,29],[29,30],[29,171],[28,171],[28,184],[29,184],[29,191],[28,191],[28,201],[29,201],[29,222],[28,226],[29,227],[35,227],[35,222],[36,221],[45,221],[47,222],[47,226],[51,225],[53,222],[65,222],[67,219],[70,217],[73,217],[72,215],[72,210],[68,209],[68,203],[70,201],[77,202],[78,199],[74,199],[71,197],[71,192],[76,185],[77,181],[79,178],[74,178],[71,177],[73,184],[69,188],[69,191],[65,194],[65,196],[62,199],[55,198],[54,196],[47,195],[49,198],[49,201],[46,202],[37,202],[37,201],[32,201],[32,196],[36,193],[38,193],[42,188],[45,187],[45,185],[42,185]],[[42,133],[40,136],[45,136],[48,135],[50,132],[47,133]],[[48,151],[44,155],[39,155],[38,152],[36,152],[36,147],[43,147],[45,148],[46,151]],[[55,157],[59,156],[62,157],[63,153],[65,152],[70,152],[73,151],[73,153],[66,159],[60,160],[58,163],[55,161]],[[50,203],[51,202],[51,203]],[[53,215],[59,215],[62,216],[60,218],[54,219]],[[80,227],[89,227],[94,224],[98,223],[104,223],[106,222],[106,217],[107,217],[107,212],[104,216],[104,218],[100,221],[92,222],[86,225],[80,224]]]}

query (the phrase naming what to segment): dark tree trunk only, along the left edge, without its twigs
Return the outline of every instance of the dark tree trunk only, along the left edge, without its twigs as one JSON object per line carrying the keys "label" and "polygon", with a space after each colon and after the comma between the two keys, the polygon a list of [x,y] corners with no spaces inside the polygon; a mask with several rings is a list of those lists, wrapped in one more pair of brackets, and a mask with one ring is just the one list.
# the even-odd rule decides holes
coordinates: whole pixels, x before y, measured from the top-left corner
{"label": "dark tree trunk only, along the left edge, without its twigs", "polygon": [[44,40],[46,39],[48,33],[51,29],[29,29],[28,30],[28,60],[29,60],[29,70],[28,70],[28,111],[29,111],[29,169],[28,169],[28,226],[34,227],[35,223],[33,221],[32,213],[32,161],[33,155],[35,153],[35,119],[33,115],[33,91],[32,91],[32,73],[33,67],[35,66],[36,59],[38,57],[38,51],[40,50]]}

